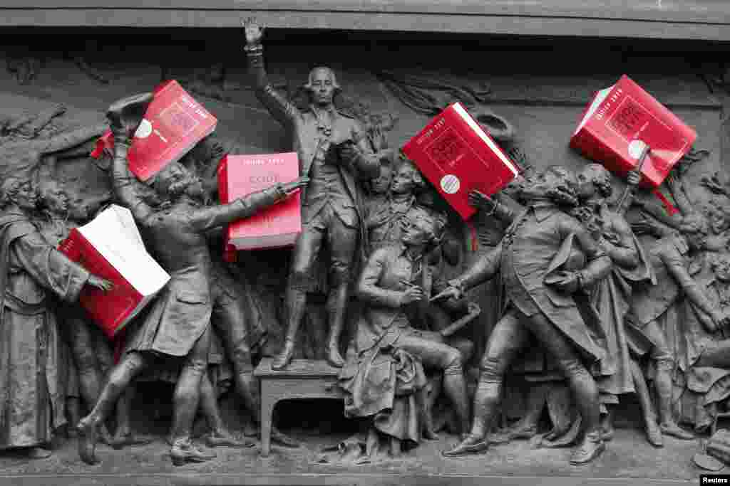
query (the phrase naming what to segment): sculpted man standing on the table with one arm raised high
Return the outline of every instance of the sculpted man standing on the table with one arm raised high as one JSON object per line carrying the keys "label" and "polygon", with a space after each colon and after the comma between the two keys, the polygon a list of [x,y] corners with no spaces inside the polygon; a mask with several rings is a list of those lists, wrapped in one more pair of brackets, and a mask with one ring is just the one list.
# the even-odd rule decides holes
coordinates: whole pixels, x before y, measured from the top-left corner
{"label": "sculpted man standing on the table with one arm raised high", "polygon": [[264,69],[263,28],[249,19],[245,23],[246,52],[256,95],[269,112],[293,136],[299,154],[300,174],[310,176],[310,187],[301,197],[302,232],[296,240],[286,287],[287,334],[284,348],[272,368],[283,369],[291,362],[296,332],[307,304],[311,270],[322,243],[328,243],[331,259],[331,289],[328,296],[329,338],[327,361],[342,367],[339,335],[345,324],[345,309],[353,264],[358,261],[358,241],[366,241],[361,188],[357,179],[372,179],[380,162],[372,154],[364,130],[356,119],[345,117],[334,106],[339,91],[330,68],[314,68],[306,87],[309,109],[301,111],[274,91]]}

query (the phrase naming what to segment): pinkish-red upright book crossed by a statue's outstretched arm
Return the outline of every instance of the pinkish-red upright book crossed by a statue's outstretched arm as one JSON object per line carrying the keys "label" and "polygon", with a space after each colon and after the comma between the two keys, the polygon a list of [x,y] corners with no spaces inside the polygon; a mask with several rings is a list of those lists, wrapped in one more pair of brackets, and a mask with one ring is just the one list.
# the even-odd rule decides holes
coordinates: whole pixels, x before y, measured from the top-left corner
{"label": "pinkish-red upright book crossed by a statue's outstretched arm", "polygon": [[[296,152],[261,155],[226,155],[218,166],[218,195],[227,204],[277,182],[299,177]],[[249,218],[228,225],[224,256],[237,250],[292,246],[301,233],[299,193]]]}

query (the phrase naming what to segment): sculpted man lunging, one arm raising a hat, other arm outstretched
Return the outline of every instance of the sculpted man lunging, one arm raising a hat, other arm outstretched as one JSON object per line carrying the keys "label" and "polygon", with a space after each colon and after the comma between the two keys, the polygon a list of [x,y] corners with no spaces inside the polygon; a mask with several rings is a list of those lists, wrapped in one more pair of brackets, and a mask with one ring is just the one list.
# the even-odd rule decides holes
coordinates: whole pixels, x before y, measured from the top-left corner
{"label": "sculpted man lunging, one arm raising a hat, other arm outstretched", "polygon": [[79,423],[82,460],[95,463],[96,427],[109,415],[118,396],[135,376],[159,356],[184,359],[174,392],[170,455],[175,465],[212,459],[191,442],[201,377],[207,369],[210,342],[211,258],[206,232],[237,221],[284,200],[304,184],[301,179],[254,192],[227,205],[202,205],[203,187],[183,165],[172,163],[155,176],[155,190],[169,198],[159,211],[139,194],[139,181],[128,169],[131,137],[152,99],[151,94],[126,98],[110,106],[107,117],[115,137],[112,187],[147,235],[158,262],[170,274],[145,320],[127,340],[126,353],[112,369],[96,406]]}

